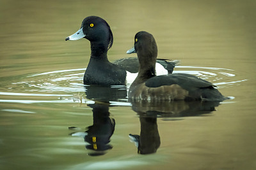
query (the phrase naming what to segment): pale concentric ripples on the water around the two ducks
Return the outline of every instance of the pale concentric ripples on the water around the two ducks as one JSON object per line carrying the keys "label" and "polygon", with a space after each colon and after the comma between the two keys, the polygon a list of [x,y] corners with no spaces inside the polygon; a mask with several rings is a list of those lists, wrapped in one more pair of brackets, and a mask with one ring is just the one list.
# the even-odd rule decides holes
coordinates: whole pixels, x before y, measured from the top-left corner
{"label": "pale concentric ripples on the water around the two ducks", "polygon": [[[77,94],[84,94],[86,86],[83,85],[84,68],[64,69],[58,71],[45,72],[40,74],[30,74],[23,76],[22,80],[16,80],[8,83],[8,91],[0,92],[0,96],[38,96],[38,97],[54,97],[58,96],[61,102],[83,102],[84,97],[77,97]],[[198,76],[207,81],[211,81],[218,88],[227,88],[230,85],[240,85],[244,80],[239,80],[236,71],[232,69],[218,67],[195,67],[195,66],[177,66],[173,73],[188,73]],[[6,83],[7,84],[7,83]],[[85,87],[85,88],[84,88]],[[113,89],[126,89],[124,86],[112,86]],[[71,97],[70,97],[71,96]],[[83,99],[82,99],[83,98]],[[1,100],[2,102],[21,102],[35,103],[36,101],[17,101]],[[86,101],[90,101],[86,100]],[[39,101],[42,102],[42,101]],[[54,101],[47,101],[53,102]],[[56,100],[55,102],[60,102]],[[122,104],[123,103],[123,104]],[[127,106],[127,98],[113,101],[113,105]],[[129,104],[128,104],[129,105]]]}

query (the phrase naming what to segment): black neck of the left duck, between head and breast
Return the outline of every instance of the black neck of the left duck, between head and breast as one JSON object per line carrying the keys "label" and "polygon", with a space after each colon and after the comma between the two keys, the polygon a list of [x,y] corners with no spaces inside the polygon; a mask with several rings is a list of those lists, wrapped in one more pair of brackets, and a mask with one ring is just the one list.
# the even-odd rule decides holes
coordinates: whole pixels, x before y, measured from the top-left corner
{"label": "black neck of the left duck, between head and breast", "polygon": [[108,60],[108,45],[104,42],[91,41],[91,59]]}

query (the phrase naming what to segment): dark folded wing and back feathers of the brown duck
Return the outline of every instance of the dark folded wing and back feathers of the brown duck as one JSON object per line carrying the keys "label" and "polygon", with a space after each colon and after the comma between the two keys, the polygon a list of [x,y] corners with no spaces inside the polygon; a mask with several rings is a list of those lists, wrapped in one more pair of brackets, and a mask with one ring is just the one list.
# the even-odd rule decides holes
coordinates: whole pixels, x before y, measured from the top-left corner
{"label": "dark folded wing and back feathers of the brown duck", "polygon": [[[182,95],[178,95],[177,97],[174,97],[174,99],[183,98],[184,100],[204,101],[223,101],[227,99],[227,97],[222,96],[222,94],[214,88],[215,85],[190,74],[154,76],[145,81],[145,87],[148,87],[149,89],[159,89],[164,87],[164,89],[170,88],[172,91],[173,89],[176,89],[177,92],[174,91],[173,94],[177,93]],[[185,90],[183,93],[182,89]],[[168,93],[168,90],[166,90],[166,92]],[[188,94],[185,92],[188,92]]]}

